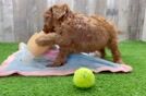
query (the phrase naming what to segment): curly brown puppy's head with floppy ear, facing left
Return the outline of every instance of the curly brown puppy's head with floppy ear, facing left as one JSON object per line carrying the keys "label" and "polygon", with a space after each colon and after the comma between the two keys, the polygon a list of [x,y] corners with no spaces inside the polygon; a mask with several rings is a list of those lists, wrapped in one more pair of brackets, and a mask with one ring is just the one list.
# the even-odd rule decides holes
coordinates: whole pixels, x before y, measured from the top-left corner
{"label": "curly brown puppy's head with floppy ear, facing left", "polygon": [[44,32],[53,32],[54,21],[61,21],[61,19],[64,17],[69,13],[69,11],[70,9],[68,4],[56,4],[49,8],[44,14]]}

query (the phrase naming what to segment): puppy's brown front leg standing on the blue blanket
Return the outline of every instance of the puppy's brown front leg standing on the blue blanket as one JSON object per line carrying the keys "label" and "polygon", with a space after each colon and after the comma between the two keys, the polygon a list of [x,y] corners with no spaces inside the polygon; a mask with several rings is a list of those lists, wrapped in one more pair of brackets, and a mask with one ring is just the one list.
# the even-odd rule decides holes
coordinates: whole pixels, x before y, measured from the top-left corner
{"label": "puppy's brown front leg standing on the blue blanket", "polygon": [[69,51],[65,49],[60,49],[60,52],[57,57],[57,59],[54,60],[53,64],[51,67],[60,67],[63,65],[66,62],[69,56]]}

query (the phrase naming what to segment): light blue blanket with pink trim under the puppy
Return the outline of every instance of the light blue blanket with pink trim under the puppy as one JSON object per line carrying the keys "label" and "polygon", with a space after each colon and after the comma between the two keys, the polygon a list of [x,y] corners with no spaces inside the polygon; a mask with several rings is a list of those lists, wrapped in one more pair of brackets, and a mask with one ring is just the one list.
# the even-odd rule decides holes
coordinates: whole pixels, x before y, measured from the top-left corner
{"label": "light blue blanket with pink trim under the puppy", "polygon": [[26,44],[21,43],[19,50],[9,56],[0,65],[0,76],[12,74],[24,76],[69,75],[80,68],[88,68],[95,73],[132,71],[130,65],[113,63],[85,53],[70,55],[66,63],[61,67],[47,67],[53,63],[58,53],[59,49],[53,49],[40,57],[34,57]]}

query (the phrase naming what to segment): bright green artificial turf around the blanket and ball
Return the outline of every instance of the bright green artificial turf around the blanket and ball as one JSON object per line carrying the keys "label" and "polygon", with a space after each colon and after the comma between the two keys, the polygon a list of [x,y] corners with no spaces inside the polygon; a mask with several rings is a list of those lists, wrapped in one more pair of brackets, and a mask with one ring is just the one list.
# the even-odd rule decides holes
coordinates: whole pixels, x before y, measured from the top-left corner
{"label": "bright green artificial turf around the blanket and ball", "polygon": [[[0,62],[15,50],[16,44],[0,44]],[[146,96],[146,43],[123,41],[120,50],[132,73],[96,74],[95,86],[86,91],[73,86],[72,75],[0,77],[0,96]]]}

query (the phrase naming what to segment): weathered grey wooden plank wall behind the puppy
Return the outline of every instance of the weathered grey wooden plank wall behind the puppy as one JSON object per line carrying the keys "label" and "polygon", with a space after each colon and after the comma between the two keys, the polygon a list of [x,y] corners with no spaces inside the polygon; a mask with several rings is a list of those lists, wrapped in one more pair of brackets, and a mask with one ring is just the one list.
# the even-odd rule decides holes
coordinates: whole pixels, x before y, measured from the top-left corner
{"label": "weathered grey wooden plank wall behind the puppy", "polygon": [[0,41],[26,41],[41,31],[44,11],[56,3],[105,16],[122,31],[121,40],[146,40],[146,0],[0,0]]}

